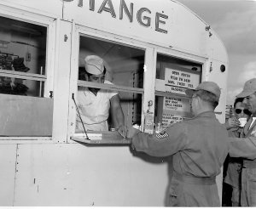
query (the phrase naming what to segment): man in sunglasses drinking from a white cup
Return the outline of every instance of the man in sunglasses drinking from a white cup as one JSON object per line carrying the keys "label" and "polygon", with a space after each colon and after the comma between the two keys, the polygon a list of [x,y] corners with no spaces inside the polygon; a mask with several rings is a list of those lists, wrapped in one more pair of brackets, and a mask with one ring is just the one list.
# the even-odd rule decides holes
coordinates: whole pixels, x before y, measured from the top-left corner
{"label": "man in sunglasses drinking from a white cup", "polygon": [[[239,118],[244,118],[248,120],[251,112],[245,109],[244,104],[242,104],[243,98],[236,98],[234,102],[234,116],[230,117],[225,123],[227,130],[229,131],[230,137],[239,138],[242,130],[242,124]],[[224,178],[224,183],[230,184],[232,187],[232,206],[240,206],[240,194],[241,194],[241,158],[228,157],[228,167]],[[225,167],[224,167],[225,168]],[[224,169],[225,170],[225,169]],[[227,201],[227,200],[225,200]]]}

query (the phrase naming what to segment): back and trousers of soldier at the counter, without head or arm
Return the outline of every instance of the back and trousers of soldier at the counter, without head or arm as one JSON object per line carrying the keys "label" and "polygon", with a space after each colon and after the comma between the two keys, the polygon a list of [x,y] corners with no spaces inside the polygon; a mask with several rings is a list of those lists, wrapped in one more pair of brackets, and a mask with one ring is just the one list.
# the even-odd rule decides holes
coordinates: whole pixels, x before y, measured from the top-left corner
{"label": "back and trousers of soldier at the counter, without head or arm", "polygon": [[173,155],[168,206],[220,206],[215,178],[228,154],[225,127],[211,111],[179,126],[184,128],[187,144]]}

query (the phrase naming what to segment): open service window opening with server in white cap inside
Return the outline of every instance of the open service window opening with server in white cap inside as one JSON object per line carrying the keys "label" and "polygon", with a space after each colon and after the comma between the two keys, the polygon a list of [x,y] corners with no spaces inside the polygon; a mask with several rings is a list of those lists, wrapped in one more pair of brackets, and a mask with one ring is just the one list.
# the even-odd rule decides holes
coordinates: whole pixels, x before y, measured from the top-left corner
{"label": "open service window opening with server in white cap inside", "polygon": [[119,128],[142,124],[144,59],[141,48],[79,37],[73,138],[88,138],[90,143],[120,143]]}

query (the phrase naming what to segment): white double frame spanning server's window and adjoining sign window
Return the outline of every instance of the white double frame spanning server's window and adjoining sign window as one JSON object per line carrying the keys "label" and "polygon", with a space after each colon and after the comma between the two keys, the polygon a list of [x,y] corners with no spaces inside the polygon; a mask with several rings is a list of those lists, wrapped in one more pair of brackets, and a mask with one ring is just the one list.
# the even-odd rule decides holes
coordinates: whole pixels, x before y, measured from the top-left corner
{"label": "white double frame spanning server's window and adjoining sign window", "polygon": [[[202,65],[202,71],[201,71],[201,79],[206,76],[206,70],[207,70],[207,63],[209,62],[209,58],[202,57],[195,54],[189,54],[187,52],[180,52],[174,49],[170,48],[164,48],[161,46],[157,46],[151,43],[147,42],[141,42],[137,41],[131,38],[122,37],[116,34],[110,34],[108,32],[104,31],[98,31],[91,29],[89,27],[86,27],[84,25],[76,25],[73,23],[73,48],[72,48],[72,69],[76,69],[71,73],[71,95],[70,98],[72,98],[72,93],[77,93],[77,86],[80,84],[82,86],[86,87],[100,87],[105,89],[115,89],[118,91],[132,91],[130,88],[121,87],[118,85],[108,85],[108,84],[93,84],[91,82],[84,82],[79,81],[77,79],[78,75],[78,69],[79,69],[79,37],[85,36],[85,37],[91,37],[99,40],[104,40],[106,42],[117,42],[122,45],[128,45],[129,47],[135,47],[135,48],[141,48],[145,51],[145,61],[144,65],[146,65],[146,68],[151,69],[151,71],[144,69],[144,76],[143,76],[143,89],[147,89],[147,91],[143,92],[143,110],[142,110],[142,130],[144,129],[144,117],[145,117],[145,111],[148,110],[148,101],[153,101],[153,105],[151,107],[152,110],[154,110],[154,97],[156,95],[166,95],[167,93],[164,92],[157,92],[155,91],[155,74],[156,74],[156,63],[157,63],[157,54],[163,54],[166,56],[172,56],[172,58],[177,59],[184,59],[191,62],[195,62],[197,64]],[[79,82],[78,82],[79,81]],[[109,86],[109,87],[108,87]],[[140,92],[140,89],[138,90]],[[136,90],[135,90],[136,92]],[[137,92],[136,92],[137,93]],[[186,95],[180,95],[175,93],[172,93],[177,98],[188,98]],[[170,96],[170,93],[168,93],[168,96]],[[68,140],[72,138],[75,133],[75,106],[73,104],[72,99],[70,99],[70,110],[69,110],[69,116],[68,116],[68,124],[72,124],[71,126],[68,126]],[[71,113],[73,112],[73,113]]]}

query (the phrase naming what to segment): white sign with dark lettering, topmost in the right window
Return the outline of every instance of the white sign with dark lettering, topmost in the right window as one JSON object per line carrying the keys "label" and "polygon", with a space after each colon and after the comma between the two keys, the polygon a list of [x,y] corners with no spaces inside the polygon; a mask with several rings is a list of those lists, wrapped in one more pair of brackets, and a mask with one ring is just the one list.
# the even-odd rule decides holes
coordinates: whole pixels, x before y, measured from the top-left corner
{"label": "white sign with dark lettering, topmost in the right window", "polygon": [[185,71],[166,68],[166,92],[185,94],[186,88],[196,88],[200,82],[200,75]]}

